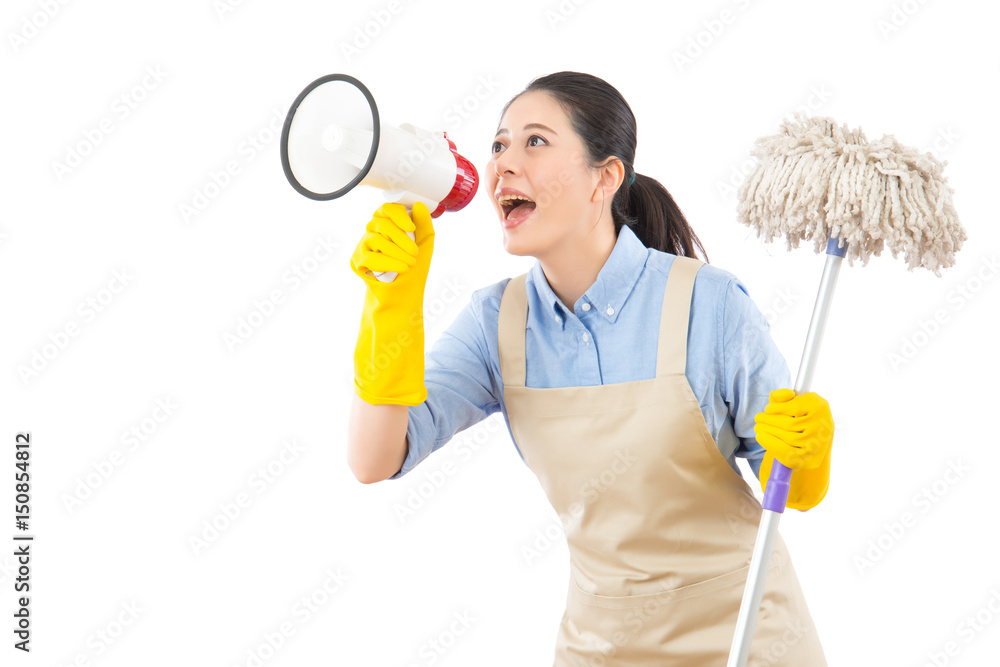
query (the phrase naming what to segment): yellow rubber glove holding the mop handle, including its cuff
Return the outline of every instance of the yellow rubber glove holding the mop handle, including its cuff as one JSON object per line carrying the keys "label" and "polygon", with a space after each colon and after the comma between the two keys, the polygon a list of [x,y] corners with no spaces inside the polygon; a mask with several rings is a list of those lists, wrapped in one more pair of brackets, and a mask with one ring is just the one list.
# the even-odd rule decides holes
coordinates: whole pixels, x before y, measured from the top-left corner
{"label": "yellow rubber glove holding the mop handle, including its cuff", "polygon": [[767,491],[777,458],[792,469],[785,506],[805,511],[818,505],[830,488],[834,431],[830,404],[815,392],[796,396],[791,389],[776,389],[754,421],[757,442],[767,450],[760,464],[761,488]]}

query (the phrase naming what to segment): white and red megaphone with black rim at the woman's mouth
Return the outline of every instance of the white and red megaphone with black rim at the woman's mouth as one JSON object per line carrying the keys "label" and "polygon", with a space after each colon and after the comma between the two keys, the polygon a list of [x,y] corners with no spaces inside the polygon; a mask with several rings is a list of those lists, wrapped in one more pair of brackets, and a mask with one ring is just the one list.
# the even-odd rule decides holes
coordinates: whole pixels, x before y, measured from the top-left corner
{"label": "white and red megaphone with black rim at the woman's mouth", "polygon": [[[461,210],[479,188],[476,168],[446,132],[382,125],[371,92],[347,74],[322,76],[295,98],[281,128],[281,168],[310,199],[336,199],[370,185],[407,213],[424,203],[433,218]],[[396,278],[395,271],[368,274]]]}

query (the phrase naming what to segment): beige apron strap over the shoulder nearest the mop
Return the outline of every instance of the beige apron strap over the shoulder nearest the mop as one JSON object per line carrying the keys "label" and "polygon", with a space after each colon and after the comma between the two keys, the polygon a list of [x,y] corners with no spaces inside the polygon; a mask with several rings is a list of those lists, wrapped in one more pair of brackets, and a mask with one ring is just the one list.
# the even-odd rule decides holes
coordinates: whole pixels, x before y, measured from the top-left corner
{"label": "beige apron strap over the shoulder nearest the mop", "polygon": [[667,273],[656,348],[656,377],[683,375],[687,366],[687,332],[694,277],[705,262],[678,255]]}

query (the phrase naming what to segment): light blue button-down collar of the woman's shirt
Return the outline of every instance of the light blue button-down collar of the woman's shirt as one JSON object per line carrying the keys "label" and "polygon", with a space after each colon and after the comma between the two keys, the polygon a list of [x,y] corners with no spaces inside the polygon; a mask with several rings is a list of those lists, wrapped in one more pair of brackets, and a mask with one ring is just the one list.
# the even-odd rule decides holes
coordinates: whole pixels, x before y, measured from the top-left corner
{"label": "light blue button-down collar of the woman's shirt", "polygon": [[[597,274],[597,280],[583,293],[576,304],[569,305],[575,310],[577,305],[582,308],[583,304],[589,303],[598,315],[614,323],[639,279],[648,256],[649,249],[642,244],[635,232],[630,227],[622,225],[615,247]],[[559,325],[563,326],[568,311],[552,291],[542,271],[541,262],[535,262],[531,267],[527,280],[534,283],[541,302],[552,310]]]}

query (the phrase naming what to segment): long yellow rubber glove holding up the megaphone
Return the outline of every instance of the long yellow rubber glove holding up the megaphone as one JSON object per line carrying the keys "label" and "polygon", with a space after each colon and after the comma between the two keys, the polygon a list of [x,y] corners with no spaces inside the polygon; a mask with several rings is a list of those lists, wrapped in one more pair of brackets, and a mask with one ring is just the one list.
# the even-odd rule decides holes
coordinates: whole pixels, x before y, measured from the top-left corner
{"label": "long yellow rubber glove holding up the megaphone", "polygon": [[[406,232],[413,232],[411,239]],[[365,228],[351,269],[368,286],[354,348],[354,391],[373,405],[419,405],[424,386],[424,286],[434,252],[434,226],[417,202],[383,204]],[[366,271],[397,271],[391,283]]]}

